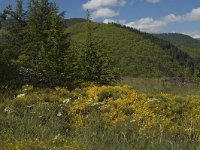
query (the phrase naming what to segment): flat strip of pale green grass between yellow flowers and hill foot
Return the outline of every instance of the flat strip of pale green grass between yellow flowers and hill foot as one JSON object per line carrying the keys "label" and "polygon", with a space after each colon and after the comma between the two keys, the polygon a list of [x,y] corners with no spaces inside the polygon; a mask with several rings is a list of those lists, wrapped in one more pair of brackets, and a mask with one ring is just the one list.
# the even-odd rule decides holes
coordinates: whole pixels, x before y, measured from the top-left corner
{"label": "flat strip of pale green grass between yellow flowers and hill foot", "polygon": [[191,83],[181,83],[180,81],[170,83],[169,81],[163,81],[162,78],[124,77],[120,84],[130,85],[134,89],[148,94],[169,93],[182,96],[200,95],[200,81],[198,79]]}

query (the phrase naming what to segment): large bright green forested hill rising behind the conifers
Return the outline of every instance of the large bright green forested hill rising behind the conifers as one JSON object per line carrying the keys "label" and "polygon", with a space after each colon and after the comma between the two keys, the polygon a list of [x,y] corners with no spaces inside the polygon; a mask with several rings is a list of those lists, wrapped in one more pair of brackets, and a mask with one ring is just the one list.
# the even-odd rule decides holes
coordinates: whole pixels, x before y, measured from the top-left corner
{"label": "large bright green forested hill rising behind the conifers", "polygon": [[[86,23],[70,26],[73,43],[79,47],[86,39]],[[189,55],[170,42],[151,34],[117,24],[93,23],[94,40],[104,42],[115,64],[125,76],[188,76],[193,73]]]}

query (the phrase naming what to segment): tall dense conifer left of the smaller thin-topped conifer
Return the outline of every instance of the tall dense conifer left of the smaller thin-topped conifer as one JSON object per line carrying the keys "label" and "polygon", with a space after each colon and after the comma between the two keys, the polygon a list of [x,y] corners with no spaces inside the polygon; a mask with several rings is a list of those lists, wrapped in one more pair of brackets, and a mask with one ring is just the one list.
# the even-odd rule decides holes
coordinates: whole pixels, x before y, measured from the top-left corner
{"label": "tall dense conifer left of the smaller thin-topped conifer", "polygon": [[31,0],[28,8],[26,41],[18,61],[34,72],[36,84],[64,86],[69,46],[64,16],[58,15],[56,4],[48,0]]}

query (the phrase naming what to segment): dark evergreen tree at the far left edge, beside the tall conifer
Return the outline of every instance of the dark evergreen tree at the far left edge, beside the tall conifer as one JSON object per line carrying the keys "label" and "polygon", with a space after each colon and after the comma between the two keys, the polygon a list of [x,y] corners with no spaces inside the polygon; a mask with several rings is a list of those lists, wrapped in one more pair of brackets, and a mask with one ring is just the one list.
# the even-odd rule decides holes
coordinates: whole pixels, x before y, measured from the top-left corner
{"label": "dark evergreen tree at the far left edge, beside the tall conifer", "polygon": [[[15,85],[19,83],[19,68],[13,64],[23,44],[25,12],[22,0],[17,0],[15,10],[8,6],[0,15],[0,84]],[[14,83],[13,83],[14,82]]]}

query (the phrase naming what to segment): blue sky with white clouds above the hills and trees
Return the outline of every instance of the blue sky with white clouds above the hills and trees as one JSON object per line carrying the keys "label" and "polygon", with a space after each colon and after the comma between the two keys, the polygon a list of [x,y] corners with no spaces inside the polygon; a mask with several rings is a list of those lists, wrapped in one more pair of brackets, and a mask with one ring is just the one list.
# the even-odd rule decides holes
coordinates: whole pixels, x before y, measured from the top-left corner
{"label": "blue sky with white clouds above the hills and trees", "polygon": [[[25,0],[26,2],[27,0]],[[200,0],[51,0],[66,18],[116,22],[150,33],[184,33],[200,38]],[[15,0],[0,0],[0,12]]]}

